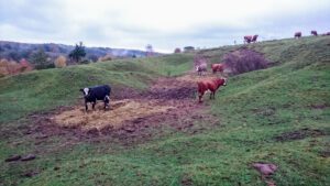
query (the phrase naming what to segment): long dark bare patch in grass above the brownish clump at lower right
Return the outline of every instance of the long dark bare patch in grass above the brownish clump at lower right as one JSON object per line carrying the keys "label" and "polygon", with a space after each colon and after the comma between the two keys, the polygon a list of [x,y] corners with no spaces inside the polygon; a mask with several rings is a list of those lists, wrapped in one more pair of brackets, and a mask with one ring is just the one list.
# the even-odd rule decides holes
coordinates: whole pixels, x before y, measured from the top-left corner
{"label": "long dark bare patch in grass above the brownish clump at lower right", "polygon": [[327,135],[327,132],[323,130],[318,130],[318,129],[309,129],[309,128],[304,128],[297,131],[290,131],[290,132],[284,132],[274,139],[276,141],[294,141],[294,140],[302,140],[306,138],[317,138],[321,135]]}

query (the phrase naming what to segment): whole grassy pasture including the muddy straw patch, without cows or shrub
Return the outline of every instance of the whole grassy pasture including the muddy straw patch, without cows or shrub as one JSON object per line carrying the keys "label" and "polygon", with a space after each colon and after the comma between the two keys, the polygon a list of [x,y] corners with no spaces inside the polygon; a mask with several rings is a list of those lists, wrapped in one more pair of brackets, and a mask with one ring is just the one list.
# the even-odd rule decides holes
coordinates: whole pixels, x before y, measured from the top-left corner
{"label": "whole grassy pasture including the muddy straw patch, without cows or shrub", "polygon": [[[199,53],[242,47],[270,67],[202,103],[191,53],[0,78],[0,185],[328,185],[330,37]],[[84,112],[79,88],[100,84],[112,108]],[[15,154],[35,160],[6,162]],[[263,179],[256,162],[278,168]]]}

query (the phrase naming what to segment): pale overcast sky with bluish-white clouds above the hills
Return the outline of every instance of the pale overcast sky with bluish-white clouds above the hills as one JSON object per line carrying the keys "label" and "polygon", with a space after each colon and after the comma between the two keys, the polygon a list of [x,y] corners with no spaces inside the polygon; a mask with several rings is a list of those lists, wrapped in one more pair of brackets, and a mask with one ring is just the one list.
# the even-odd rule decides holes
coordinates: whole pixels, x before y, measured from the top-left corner
{"label": "pale overcast sky with bluish-white clouds above the hills", "polygon": [[330,32],[330,0],[0,0],[0,40],[173,52]]}

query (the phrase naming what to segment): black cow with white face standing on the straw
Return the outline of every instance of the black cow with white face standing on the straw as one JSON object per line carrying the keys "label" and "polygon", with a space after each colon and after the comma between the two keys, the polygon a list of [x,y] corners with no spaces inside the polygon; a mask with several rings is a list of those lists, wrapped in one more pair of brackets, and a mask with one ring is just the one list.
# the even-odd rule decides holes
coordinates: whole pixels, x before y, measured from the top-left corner
{"label": "black cow with white face standing on the straw", "polygon": [[102,100],[105,102],[105,109],[110,105],[110,92],[111,88],[108,85],[95,86],[89,88],[81,88],[80,91],[84,94],[86,111],[88,110],[88,102],[92,103],[92,109],[97,100]]}

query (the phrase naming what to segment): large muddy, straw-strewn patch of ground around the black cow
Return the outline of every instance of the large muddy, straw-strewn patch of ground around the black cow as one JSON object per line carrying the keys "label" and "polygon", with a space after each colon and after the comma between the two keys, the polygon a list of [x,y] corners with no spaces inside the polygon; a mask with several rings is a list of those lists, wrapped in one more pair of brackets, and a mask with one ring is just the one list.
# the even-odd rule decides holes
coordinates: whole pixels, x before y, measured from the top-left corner
{"label": "large muddy, straw-strewn patch of ground around the black cow", "polygon": [[132,145],[173,132],[197,134],[220,125],[220,119],[198,103],[197,85],[190,76],[160,78],[145,91],[117,92],[110,110],[103,110],[99,102],[86,112],[81,100],[77,106],[35,113],[22,133],[35,139],[35,145],[52,141],[52,136],[66,139],[63,146],[82,141]]}

